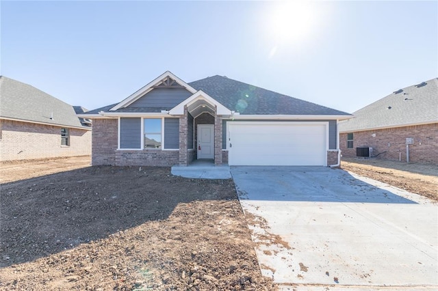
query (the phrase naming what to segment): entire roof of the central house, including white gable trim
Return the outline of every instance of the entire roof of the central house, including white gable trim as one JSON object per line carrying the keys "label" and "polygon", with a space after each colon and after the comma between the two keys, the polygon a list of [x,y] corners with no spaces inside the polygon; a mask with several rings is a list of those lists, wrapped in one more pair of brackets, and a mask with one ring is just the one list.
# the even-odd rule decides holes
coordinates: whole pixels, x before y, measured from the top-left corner
{"label": "entire roof of the central house, including white gable trim", "polygon": [[[157,87],[183,87],[187,89],[192,96],[175,106],[173,109],[168,107],[136,107],[130,108],[133,102],[151,92]],[[199,95],[199,96],[198,96]],[[211,99],[212,98],[212,99]],[[193,100],[192,100],[193,99]],[[189,102],[190,104],[186,104]],[[261,87],[235,81],[227,77],[214,76],[185,83],[169,71],[164,72],[157,79],[142,87],[137,92],[125,98],[125,100],[115,104],[94,109],[82,114],[99,117],[99,113],[105,116],[116,116],[121,113],[129,113],[131,116],[135,113],[162,113],[169,111],[170,114],[181,114],[181,106],[190,105],[193,107],[192,113],[196,114],[198,107],[205,107],[209,111],[218,108],[218,114],[229,115],[238,113],[244,115],[309,115],[309,116],[333,116],[350,118],[352,115],[343,111],[338,111],[312,102],[300,100],[276,92],[272,92]],[[211,109],[211,108],[213,109]],[[198,108],[198,109],[197,109]],[[221,113],[219,113],[221,112]],[[243,117],[242,116],[242,117]]]}

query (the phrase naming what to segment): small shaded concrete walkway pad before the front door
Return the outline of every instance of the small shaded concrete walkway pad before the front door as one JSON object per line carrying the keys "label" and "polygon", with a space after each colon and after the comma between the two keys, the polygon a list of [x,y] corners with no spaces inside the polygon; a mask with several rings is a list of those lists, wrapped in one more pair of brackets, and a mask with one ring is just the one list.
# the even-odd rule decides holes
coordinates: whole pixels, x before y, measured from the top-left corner
{"label": "small shaded concrete walkway pad before the front door", "polygon": [[172,175],[196,179],[231,179],[229,165],[214,165],[214,160],[194,160],[188,166],[175,165]]}

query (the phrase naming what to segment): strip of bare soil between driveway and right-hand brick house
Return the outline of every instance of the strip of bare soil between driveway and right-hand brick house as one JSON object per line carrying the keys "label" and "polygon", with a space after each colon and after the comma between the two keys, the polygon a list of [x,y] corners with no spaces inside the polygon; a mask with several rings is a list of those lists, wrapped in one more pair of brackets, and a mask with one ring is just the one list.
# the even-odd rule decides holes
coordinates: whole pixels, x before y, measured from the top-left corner
{"label": "strip of bare soil between driveway and right-hand brick house", "polygon": [[342,158],[341,167],[438,202],[438,165],[380,158]]}

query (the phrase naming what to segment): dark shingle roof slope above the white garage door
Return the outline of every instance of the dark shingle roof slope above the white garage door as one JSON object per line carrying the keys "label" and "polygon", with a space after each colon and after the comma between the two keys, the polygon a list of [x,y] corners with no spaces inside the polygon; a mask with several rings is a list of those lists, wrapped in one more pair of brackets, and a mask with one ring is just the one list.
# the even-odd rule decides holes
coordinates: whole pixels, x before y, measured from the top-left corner
{"label": "dark shingle roof slope above the white garage door", "polygon": [[190,86],[209,94],[230,110],[247,115],[349,115],[227,77],[213,76]]}

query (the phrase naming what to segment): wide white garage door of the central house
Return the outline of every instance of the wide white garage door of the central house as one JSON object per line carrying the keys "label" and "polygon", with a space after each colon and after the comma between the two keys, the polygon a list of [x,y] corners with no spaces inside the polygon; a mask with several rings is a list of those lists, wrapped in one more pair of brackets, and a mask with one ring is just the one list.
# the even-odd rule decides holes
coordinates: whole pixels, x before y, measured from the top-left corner
{"label": "wide white garage door of the central house", "polygon": [[327,123],[229,122],[229,165],[326,165]]}

